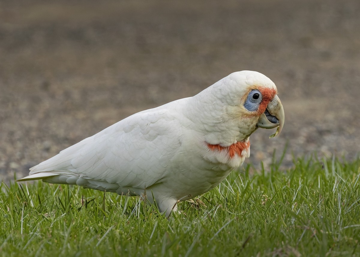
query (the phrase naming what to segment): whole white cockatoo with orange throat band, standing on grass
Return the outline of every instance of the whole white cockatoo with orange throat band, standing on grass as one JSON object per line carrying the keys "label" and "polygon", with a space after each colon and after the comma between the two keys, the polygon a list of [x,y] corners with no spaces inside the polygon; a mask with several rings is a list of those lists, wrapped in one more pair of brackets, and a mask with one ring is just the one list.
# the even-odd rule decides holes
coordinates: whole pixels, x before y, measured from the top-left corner
{"label": "whole white cockatoo with orange throat band, standing on grass", "polygon": [[[222,78],[195,96],[135,113],[30,168],[42,179],[143,195],[170,215],[179,201],[219,185],[249,157],[249,136],[284,125],[276,86],[255,71]],[[150,193],[151,192],[151,193]]]}

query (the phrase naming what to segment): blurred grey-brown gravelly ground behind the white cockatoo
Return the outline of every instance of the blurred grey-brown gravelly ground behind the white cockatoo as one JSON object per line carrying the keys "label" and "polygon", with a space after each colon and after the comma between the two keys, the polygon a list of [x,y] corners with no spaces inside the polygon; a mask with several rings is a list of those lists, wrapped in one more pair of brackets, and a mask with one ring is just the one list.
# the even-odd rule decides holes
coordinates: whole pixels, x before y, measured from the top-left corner
{"label": "blurred grey-brown gravelly ground behind the white cockatoo", "polygon": [[360,1],[0,1],[0,179],[132,113],[234,71],[264,73],[285,109],[247,163],[352,159],[360,136]]}

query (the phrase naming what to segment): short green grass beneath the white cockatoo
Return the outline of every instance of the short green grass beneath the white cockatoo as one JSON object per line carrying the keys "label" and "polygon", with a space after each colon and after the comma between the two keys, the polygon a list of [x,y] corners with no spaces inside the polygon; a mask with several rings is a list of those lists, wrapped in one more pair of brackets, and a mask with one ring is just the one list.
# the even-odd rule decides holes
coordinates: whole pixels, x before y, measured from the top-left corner
{"label": "short green grass beneath the white cockatoo", "polygon": [[359,166],[248,166],[169,220],[139,198],[3,183],[0,256],[360,256]]}

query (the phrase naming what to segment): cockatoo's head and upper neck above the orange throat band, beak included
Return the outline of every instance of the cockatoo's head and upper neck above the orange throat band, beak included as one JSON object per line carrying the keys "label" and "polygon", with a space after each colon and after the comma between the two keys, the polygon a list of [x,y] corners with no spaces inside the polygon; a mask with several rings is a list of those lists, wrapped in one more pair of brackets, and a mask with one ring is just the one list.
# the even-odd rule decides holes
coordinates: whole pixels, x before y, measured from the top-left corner
{"label": "cockatoo's head and upper neck above the orange throat band, beak included", "polygon": [[277,127],[270,137],[281,132],[285,119],[283,105],[274,82],[265,75],[255,71],[234,72],[209,89],[204,91],[213,96],[209,99],[216,100],[208,102],[212,107],[206,116],[220,117],[208,129],[208,143],[231,145],[246,140],[259,127]]}

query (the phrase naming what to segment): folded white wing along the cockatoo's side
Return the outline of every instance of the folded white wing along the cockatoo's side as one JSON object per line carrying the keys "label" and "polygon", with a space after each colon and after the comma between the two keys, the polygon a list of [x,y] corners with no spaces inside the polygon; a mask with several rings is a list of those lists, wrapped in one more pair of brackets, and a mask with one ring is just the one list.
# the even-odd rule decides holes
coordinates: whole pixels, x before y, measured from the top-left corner
{"label": "folded white wing along the cockatoo's side", "polygon": [[136,113],[32,167],[30,174],[71,174],[122,187],[149,187],[165,175],[181,145],[179,115],[176,108]]}

